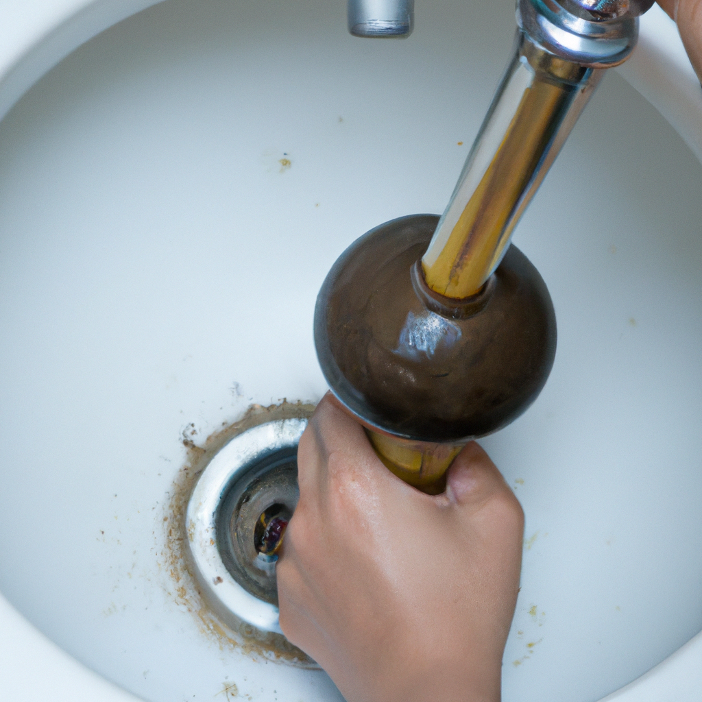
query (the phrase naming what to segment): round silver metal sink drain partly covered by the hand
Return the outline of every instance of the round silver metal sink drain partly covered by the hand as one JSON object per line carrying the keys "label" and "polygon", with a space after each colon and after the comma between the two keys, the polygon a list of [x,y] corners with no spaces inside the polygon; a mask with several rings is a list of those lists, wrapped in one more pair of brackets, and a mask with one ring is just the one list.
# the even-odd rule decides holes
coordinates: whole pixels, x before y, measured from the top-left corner
{"label": "round silver metal sink drain partly covered by the hand", "polygon": [[282,634],[275,553],[298,501],[297,448],[307,419],[260,424],[223,446],[199,477],[185,527],[197,579],[211,607]]}

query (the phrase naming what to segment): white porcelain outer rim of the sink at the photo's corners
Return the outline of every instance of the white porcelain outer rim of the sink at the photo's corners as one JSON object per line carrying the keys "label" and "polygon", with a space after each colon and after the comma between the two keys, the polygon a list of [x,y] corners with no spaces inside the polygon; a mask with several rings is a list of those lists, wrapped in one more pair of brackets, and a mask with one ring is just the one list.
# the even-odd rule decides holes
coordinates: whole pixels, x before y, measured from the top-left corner
{"label": "white porcelain outer rim of the sink at the photo's corners", "polygon": [[[6,1],[2,6],[2,11],[6,13],[7,21],[0,23],[2,29],[2,39],[0,46],[4,50],[0,53],[0,118],[12,107],[25,91],[43,75],[48,69],[53,67],[58,61],[68,53],[77,48],[79,44],[98,34],[103,29],[113,25],[147,7],[159,4],[163,0],[127,0],[118,3],[117,0],[27,0],[21,11],[15,10],[13,5]],[[694,77],[690,75],[689,62],[680,59],[682,43],[677,37],[671,34],[670,27],[674,25],[670,20],[660,22],[663,12],[659,8],[651,11],[642,22],[642,40],[639,51],[635,57],[626,64],[621,73],[628,79],[655,107],[662,112],[663,116],[670,121],[673,127],[687,141],[691,150],[698,158],[702,157],[702,135],[691,130],[686,119],[696,114],[697,119],[702,116],[702,95],[698,95],[699,86]],[[677,40],[677,41],[676,41]],[[661,65],[663,63],[665,74],[670,78],[668,84],[658,81],[657,74],[648,72],[651,65]],[[672,86],[672,88],[671,88]],[[670,103],[671,97],[675,98]],[[697,100],[694,100],[697,98]],[[687,105],[687,112],[680,114],[680,110],[671,110],[670,104],[675,107],[678,104]],[[697,110],[697,112],[695,112]],[[698,123],[697,123],[698,124]],[[702,160],[702,159],[701,159]],[[48,638],[39,633],[38,630],[24,618],[13,610],[11,605],[0,592],[0,629],[5,635],[0,637],[0,651],[4,654],[4,660],[14,659],[21,650],[24,661],[33,661],[37,658],[37,652],[41,651],[42,663],[46,670],[52,663],[47,661],[61,661],[56,665],[61,665],[62,670],[68,670],[71,664],[68,656],[55,644],[51,644]],[[25,642],[20,649],[17,642]],[[12,642],[12,643],[11,643]],[[50,644],[47,647],[47,643]],[[55,650],[51,651],[51,646]],[[61,658],[61,655],[63,658]],[[53,658],[52,658],[53,656]],[[70,658],[70,661],[73,661]],[[694,684],[695,675],[702,668],[702,633],[696,635],[688,644],[685,644],[679,651],[670,656],[656,666],[649,673],[629,686],[607,696],[607,700],[614,701],[644,700],[652,696],[652,691],[662,689],[659,686],[661,680],[672,680],[670,675],[675,675],[675,680],[689,680]],[[84,668],[79,663],[75,663],[77,668],[67,673],[66,697],[72,694],[72,699],[76,699],[76,680],[88,680],[95,678],[95,673]],[[677,667],[676,667],[677,666]],[[29,673],[29,665],[7,665],[0,670],[0,684],[8,689],[21,689],[22,682],[32,680],[33,694],[37,694],[37,675],[32,667],[32,674]],[[673,673],[670,671],[673,670]],[[665,676],[668,676],[667,678]],[[689,675],[689,678],[688,678]],[[100,687],[100,698],[134,700],[136,699],[126,691],[115,691],[113,686],[106,680],[97,676],[101,681],[95,682]],[[61,694],[52,682],[53,698]],[[91,683],[92,684],[92,683]],[[26,689],[26,688],[25,688]],[[689,687],[689,700],[693,687]],[[93,693],[94,694],[94,693]],[[117,696],[114,696],[117,695]],[[114,696],[114,697],[113,697]],[[85,697],[88,699],[88,696]],[[94,698],[94,697],[93,697]]]}

